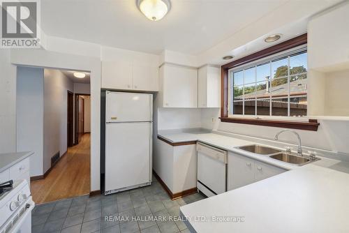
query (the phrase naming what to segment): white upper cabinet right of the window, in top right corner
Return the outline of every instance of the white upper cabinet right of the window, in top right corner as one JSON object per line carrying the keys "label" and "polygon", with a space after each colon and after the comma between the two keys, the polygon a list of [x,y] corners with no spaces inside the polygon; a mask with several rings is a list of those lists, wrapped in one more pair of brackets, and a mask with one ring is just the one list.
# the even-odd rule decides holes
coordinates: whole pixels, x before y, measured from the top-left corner
{"label": "white upper cabinet right of the window, in top right corner", "polygon": [[349,68],[349,3],[333,8],[308,24],[308,66],[320,72]]}

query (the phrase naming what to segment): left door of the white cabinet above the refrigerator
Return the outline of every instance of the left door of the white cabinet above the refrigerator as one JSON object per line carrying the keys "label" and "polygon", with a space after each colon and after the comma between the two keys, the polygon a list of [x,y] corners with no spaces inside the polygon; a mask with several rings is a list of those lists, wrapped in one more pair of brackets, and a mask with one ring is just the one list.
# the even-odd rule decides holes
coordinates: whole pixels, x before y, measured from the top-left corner
{"label": "left door of the white cabinet above the refrigerator", "polygon": [[102,61],[102,87],[132,89],[132,63],[126,61]]}

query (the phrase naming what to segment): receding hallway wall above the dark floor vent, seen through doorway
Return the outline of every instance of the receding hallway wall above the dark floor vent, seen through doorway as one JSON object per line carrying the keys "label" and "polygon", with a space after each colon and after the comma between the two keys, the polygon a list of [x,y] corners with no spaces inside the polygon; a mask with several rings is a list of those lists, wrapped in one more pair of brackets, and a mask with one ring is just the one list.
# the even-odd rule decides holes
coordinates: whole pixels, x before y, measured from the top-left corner
{"label": "receding hallway wall above the dark floor vent, seen through doorway", "polygon": [[74,91],[68,77],[59,70],[44,70],[44,172],[55,153],[62,156],[67,151],[67,91]]}

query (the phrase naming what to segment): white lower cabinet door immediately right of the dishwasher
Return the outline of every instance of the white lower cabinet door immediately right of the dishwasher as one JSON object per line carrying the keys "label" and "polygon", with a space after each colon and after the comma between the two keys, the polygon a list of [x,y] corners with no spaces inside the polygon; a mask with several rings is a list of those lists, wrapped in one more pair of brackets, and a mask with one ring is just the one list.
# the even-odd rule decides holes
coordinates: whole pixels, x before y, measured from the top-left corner
{"label": "white lower cabinet door immediately right of the dishwasher", "polygon": [[228,190],[254,182],[254,160],[228,153]]}

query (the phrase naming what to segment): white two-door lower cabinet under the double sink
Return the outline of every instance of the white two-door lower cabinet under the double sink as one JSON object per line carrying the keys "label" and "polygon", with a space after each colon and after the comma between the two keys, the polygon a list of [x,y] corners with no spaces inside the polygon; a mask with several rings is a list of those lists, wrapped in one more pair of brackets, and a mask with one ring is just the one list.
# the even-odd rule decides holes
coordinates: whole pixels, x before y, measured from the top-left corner
{"label": "white two-door lower cabinet under the double sink", "polygon": [[228,153],[228,190],[267,179],[282,172],[280,167],[262,163],[236,153]]}

